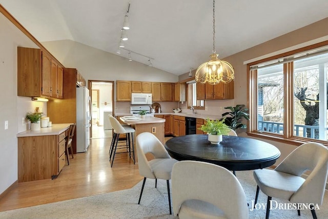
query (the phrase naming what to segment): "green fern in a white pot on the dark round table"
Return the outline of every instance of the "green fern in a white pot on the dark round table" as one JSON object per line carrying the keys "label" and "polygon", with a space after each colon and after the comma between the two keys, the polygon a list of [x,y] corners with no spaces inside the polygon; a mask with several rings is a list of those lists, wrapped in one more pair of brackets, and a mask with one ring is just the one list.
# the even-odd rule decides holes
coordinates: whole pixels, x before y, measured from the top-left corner
{"label": "green fern in a white pot on the dark round table", "polygon": [[222,142],[222,135],[227,135],[230,132],[229,127],[224,124],[223,120],[210,120],[207,118],[206,123],[201,125],[199,130],[207,132],[209,141],[211,144],[219,144]]}

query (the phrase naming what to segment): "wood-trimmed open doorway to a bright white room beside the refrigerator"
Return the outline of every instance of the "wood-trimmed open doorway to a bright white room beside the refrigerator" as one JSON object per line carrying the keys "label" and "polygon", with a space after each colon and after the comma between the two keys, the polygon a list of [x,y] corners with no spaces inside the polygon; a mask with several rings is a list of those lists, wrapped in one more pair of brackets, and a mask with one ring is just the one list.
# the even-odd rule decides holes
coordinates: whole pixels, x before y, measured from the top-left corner
{"label": "wood-trimmed open doorway to a bright white room beside the refrigerator", "polygon": [[92,103],[91,138],[112,137],[108,115],[114,115],[114,82],[88,80]]}

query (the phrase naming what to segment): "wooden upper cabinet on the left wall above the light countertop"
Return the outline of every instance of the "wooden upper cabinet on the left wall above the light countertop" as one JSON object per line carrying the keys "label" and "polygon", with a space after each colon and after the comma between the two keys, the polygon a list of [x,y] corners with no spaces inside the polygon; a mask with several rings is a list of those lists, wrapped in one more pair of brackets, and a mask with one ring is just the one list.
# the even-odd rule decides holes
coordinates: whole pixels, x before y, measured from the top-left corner
{"label": "wooden upper cabinet on the left wall above the light countertop", "polygon": [[17,95],[63,98],[63,66],[41,49],[17,47]]}

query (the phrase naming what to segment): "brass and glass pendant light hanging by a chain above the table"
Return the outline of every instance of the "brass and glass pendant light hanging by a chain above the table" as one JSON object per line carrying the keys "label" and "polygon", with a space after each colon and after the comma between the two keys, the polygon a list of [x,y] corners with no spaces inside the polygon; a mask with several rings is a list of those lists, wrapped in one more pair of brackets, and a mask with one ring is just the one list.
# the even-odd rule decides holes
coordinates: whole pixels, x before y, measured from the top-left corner
{"label": "brass and glass pendant light hanging by a chain above the table", "polygon": [[215,0],[213,0],[213,54],[210,57],[209,62],[201,64],[196,70],[196,82],[211,85],[231,82],[235,78],[233,67],[228,62],[221,61],[215,51]]}

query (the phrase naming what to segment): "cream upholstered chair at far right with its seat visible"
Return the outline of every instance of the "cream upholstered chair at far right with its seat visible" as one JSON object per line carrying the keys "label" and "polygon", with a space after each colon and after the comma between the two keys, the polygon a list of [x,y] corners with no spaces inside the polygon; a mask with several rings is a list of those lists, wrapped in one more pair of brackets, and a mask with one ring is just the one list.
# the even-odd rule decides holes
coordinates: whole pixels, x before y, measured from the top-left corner
{"label": "cream upholstered chair at far right with its seat visible", "polygon": [[[306,180],[301,175],[310,170]],[[274,170],[254,170],[257,183],[255,204],[259,189],[268,195],[268,205],[272,197],[289,200],[291,203],[322,204],[328,172],[328,149],[318,143],[304,143],[290,153]],[[311,210],[317,218],[315,210]],[[270,208],[267,207],[269,218]],[[298,210],[298,215],[300,211]]]}

